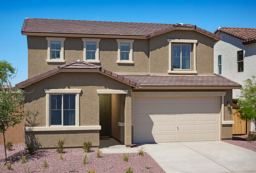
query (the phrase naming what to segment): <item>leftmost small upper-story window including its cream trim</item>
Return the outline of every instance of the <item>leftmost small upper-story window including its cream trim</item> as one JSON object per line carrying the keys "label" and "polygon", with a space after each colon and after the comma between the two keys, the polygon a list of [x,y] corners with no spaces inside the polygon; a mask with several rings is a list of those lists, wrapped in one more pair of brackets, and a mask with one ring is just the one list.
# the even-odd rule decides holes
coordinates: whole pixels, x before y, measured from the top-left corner
{"label": "leftmost small upper-story window including its cream trim", "polygon": [[46,37],[48,63],[65,63],[64,60],[64,41],[63,37]]}

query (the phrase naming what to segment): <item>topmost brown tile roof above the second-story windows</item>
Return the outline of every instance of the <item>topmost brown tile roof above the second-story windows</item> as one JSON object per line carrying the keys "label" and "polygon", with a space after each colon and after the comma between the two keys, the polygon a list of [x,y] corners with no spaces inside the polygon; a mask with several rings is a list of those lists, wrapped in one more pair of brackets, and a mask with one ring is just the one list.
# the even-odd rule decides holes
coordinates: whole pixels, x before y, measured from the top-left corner
{"label": "topmost brown tile roof above the second-story windows", "polygon": [[22,33],[64,33],[90,35],[126,35],[152,37],[179,27],[193,28],[196,31],[212,36],[217,40],[219,35],[198,28],[191,24],[155,24],[136,22],[106,22],[91,20],[63,20],[46,18],[25,18]]}

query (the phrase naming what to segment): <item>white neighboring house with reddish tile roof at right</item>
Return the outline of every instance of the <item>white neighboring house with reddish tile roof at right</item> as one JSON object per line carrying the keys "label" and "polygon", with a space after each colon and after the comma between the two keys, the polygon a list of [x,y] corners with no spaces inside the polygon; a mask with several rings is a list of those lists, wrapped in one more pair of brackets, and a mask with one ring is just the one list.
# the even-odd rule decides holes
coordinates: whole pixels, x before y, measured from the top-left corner
{"label": "white neighboring house with reddish tile roof at right", "polygon": [[[222,37],[214,44],[214,73],[240,84],[256,75],[256,29],[219,27],[214,33]],[[239,96],[240,90],[234,89],[233,99]]]}

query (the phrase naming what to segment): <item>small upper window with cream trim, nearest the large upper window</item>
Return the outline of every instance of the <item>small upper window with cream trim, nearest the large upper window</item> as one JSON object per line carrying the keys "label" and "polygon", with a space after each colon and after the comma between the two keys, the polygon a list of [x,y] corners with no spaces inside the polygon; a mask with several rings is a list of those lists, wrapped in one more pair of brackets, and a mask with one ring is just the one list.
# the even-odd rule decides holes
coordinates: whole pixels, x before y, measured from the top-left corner
{"label": "small upper window with cream trim, nearest the large upper window", "polygon": [[132,44],[134,40],[117,39],[117,63],[133,64]]}

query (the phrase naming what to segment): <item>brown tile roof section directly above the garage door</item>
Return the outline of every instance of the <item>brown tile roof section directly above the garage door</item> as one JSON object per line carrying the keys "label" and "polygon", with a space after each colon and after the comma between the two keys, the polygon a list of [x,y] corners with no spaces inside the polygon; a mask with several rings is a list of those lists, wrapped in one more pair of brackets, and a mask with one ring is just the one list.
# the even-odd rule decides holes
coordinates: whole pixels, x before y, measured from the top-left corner
{"label": "brown tile roof section directly above the garage door", "polygon": [[221,75],[134,75],[123,77],[139,83],[140,86],[238,86]]}

